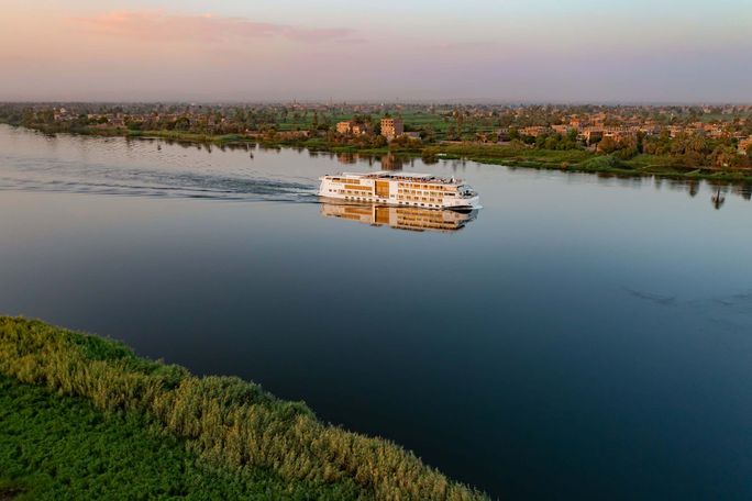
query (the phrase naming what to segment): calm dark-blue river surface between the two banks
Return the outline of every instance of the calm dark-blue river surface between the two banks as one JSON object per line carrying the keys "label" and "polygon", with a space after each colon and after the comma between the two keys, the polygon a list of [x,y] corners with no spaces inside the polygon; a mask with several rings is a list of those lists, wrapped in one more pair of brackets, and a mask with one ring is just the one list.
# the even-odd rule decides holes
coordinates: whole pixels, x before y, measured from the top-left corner
{"label": "calm dark-blue river surface between the two banks", "polygon": [[423,232],[313,196],[378,168],[0,126],[0,312],[253,379],[494,497],[752,498],[749,188],[416,160],[484,205]]}

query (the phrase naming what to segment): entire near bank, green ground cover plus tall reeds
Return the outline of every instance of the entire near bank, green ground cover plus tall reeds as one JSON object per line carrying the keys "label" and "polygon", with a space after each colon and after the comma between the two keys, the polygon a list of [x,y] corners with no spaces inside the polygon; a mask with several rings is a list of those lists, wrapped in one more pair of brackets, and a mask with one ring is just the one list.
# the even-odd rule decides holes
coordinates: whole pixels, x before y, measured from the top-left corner
{"label": "entire near bank, green ground cover plus tall reeds", "polygon": [[252,382],[40,321],[0,318],[0,498],[487,499]]}

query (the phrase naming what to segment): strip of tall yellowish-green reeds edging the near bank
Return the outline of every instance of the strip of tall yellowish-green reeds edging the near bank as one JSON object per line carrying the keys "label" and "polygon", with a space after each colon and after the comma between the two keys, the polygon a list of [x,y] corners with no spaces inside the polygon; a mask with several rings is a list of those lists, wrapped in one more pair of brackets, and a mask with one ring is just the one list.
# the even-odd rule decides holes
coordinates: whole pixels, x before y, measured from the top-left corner
{"label": "strip of tall yellowish-green reeds edging the near bank", "polygon": [[[117,414],[121,422],[108,422],[115,431],[125,423],[133,433],[144,433],[143,441],[166,435],[174,441],[170,444],[184,443],[185,454],[222,475],[255,478],[265,489],[292,489],[290,497],[485,499],[396,444],[327,425],[305,404],[278,400],[254,383],[198,378],[183,367],[139,358],[120,343],[42,322],[0,318],[0,374],[65,399],[82,398],[76,401],[92,405],[90,412]],[[12,401],[22,393],[9,392]],[[41,412],[26,403],[34,409],[30,412]],[[19,417],[11,412],[3,420]],[[33,434],[24,430],[25,422],[19,422],[19,433]],[[26,447],[25,441],[18,443]],[[128,458],[130,453],[122,455]],[[37,468],[30,465],[31,475]],[[53,461],[51,467],[62,464]]]}

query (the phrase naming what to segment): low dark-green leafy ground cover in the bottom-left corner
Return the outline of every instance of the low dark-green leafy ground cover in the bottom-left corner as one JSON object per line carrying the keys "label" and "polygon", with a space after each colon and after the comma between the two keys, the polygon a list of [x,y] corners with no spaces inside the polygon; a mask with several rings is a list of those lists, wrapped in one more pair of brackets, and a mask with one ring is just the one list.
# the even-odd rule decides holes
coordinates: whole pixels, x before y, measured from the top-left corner
{"label": "low dark-green leafy ground cover in the bottom-left corner", "polygon": [[[345,498],[344,486],[213,467],[136,412],[0,377],[0,500]],[[4,496],[4,497],[3,497]]]}

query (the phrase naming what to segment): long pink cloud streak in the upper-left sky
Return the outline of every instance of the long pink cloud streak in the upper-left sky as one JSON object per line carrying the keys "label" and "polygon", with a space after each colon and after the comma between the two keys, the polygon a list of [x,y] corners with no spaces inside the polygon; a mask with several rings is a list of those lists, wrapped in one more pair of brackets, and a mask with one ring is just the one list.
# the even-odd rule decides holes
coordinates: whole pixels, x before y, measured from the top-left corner
{"label": "long pink cloud streak in the upper-left sky", "polygon": [[347,29],[302,27],[246,18],[168,14],[163,11],[117,11],[70,20],[90,33],[145,42],[242,43],[279,37],[316,43],[350,38],[354,33]]}

